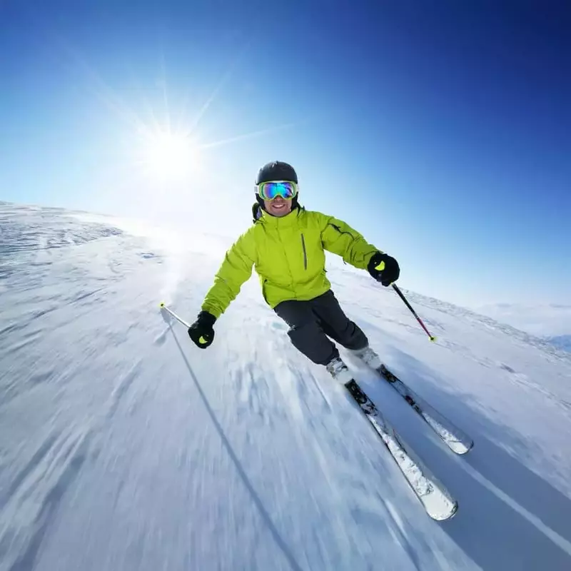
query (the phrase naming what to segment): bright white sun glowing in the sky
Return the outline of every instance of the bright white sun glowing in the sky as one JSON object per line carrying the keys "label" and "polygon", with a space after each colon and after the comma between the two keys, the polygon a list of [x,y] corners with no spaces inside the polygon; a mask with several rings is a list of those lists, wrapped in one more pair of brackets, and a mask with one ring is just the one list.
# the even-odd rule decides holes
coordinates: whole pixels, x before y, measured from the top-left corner
{"label": "bright white sun glowing in the sky", "polygon": [[143,166],[153,178],[186,178],[198,163],[198,145],[188,136],[161,131],[146,137]]}

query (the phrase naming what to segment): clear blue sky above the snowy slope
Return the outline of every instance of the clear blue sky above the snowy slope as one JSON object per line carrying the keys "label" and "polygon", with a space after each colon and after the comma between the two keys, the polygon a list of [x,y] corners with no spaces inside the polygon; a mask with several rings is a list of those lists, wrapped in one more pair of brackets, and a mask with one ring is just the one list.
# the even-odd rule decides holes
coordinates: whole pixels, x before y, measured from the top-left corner
{"label": "clear blue sky above the snowy slope", "polygon": [[[233,236],[280,159],[306,208],[398,258],[405,288],[571,303],[570,12],[4,1],[0,199]],[[155,164],[167,132],[194,144],[177,178]]]}

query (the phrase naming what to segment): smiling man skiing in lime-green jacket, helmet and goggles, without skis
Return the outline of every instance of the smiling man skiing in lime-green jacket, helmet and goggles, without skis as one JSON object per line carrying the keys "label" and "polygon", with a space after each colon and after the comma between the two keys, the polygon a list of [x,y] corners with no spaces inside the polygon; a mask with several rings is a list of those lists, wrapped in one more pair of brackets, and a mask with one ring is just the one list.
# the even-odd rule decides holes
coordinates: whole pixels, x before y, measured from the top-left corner
{"label": "smiling man skiing in lime-green jacket, helmet and goggles, without skis", "polygon": [[325,250],[355,268],[366,269],[385,286],[398,279],[395,258],[375,248],[343,221],[298,204],[298,176],[288,163],[274,161],[256,177],[254,223],[226,253],[206,293],[202,310],[188,328],[200,348],[214,340],[213,325],[256,268],[266,303],[290,327],[291,342],[313,363],[325,365],[333,378],[351,375],[331,339],[373,368],[378,355],[365,333],[343,313],[325,276]]}

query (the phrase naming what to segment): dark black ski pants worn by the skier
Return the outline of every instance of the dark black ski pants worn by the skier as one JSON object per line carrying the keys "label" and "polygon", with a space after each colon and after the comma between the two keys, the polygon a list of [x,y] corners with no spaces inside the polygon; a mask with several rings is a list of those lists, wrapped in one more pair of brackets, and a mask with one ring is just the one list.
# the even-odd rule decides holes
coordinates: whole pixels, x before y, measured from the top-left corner
{"label": "dark black ski pants worn by the skier", "polygon": [[339,356],[328,337],[348,349],[368,345],[365,333],[343,313],[331,290],[308,301],[282,301],[274,311],[290,326],[288,335],[295,348],[318,365]]}

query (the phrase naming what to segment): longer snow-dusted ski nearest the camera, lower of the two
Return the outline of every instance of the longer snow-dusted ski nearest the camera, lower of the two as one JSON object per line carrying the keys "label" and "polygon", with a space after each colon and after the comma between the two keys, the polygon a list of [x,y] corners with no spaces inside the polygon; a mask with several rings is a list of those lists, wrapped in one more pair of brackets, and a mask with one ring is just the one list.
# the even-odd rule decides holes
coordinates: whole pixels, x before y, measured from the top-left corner
{"label": "longer snow-dusted ski nearest the camera, lower of the two", "polygon": [[383,440],[387,450],[428,515],[433,520],[438,521],[450,519],[458,510],[458,502],[453,500],[448,490],[438,482],[420,459],[403,443],[395,429],[385,420],[375,403],[368,398],[356,381],[350,380],[345,384],[345,388]]}

